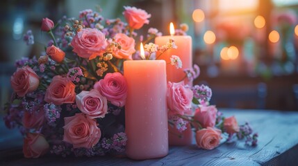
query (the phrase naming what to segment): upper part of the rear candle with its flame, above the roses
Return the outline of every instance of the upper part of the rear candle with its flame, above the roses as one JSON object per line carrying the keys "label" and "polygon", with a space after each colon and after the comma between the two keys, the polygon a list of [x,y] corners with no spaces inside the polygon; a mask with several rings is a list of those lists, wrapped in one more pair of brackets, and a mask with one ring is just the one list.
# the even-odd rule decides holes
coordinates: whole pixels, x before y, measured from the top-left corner
{"label": "upper part of the rear candle with its flame, above the roses", "polygon": [[[172,28],[171,28],[172,27]],[[185,81],[185,84],[189,84],[192,86],[192,82],[188,82],[185,78],[185,73],[183,72],[183,69],[185,68],[192,68],[192,37],[190,36],[175,36],[174,35],[175,30],[174,26],[171,23],[170,26],[170,34],[168,36],[161,36],[156,37],[155,44],[158,46],[163,46],[169,42],[169,39],[173,39],[177,48],[171,48],[158,59],[164,59],[165,62],[167,62],[167,81],[170,82],[181,82],[182,80]],[[168,64],[170,62],[170,57],[172,55],[177,55],[180,57],[182,62],[182,68],[176,68],[176,66]]]}

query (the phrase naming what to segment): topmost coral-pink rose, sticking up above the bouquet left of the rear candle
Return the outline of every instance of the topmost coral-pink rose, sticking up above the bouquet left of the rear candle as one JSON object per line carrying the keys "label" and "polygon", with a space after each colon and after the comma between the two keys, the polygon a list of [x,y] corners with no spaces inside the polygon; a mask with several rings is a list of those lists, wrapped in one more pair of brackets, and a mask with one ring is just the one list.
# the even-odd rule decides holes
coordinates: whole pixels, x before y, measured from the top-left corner
{"label": "topmost coral-pink rose, sticking up above the bouquet left of the rear candle", "polygon": [[124,6],[124,9],[123,15],[131,28],[140,29],[144,24],[149,24],[151,15],[145,10],[130,6]]}

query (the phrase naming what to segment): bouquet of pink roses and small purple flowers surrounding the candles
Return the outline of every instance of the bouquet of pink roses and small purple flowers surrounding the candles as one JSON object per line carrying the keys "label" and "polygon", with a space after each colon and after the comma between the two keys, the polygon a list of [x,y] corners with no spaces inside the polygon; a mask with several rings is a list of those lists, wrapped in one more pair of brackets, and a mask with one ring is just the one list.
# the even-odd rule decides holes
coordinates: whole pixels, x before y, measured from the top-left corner
{"label": "bouquet of pink roses and small purple flowers surrounding the candles", "polygon": [[[146,59],[158,59],[157,53],[176,45],[172,40],[165,46],[150,43],[161,35],[156,28],[149,28],[146,39],[135,33],[149,24],[151,15],[144,10],[124,7],[123,14],[127,23],[104,19],[92,10],[81,11],[78,19],[63,17],[57,24],[48,18],[42,20],[41,30],[51,40],[42,55],[16,62],[17,71],[10,79],[14,93],[5,107],[6,126],[18,127],[24,136],[26,158],[48,152],[60,156],[124,152],[127,87],[123,62],[140,58],[135,49],[140,42],[144,43]],[[183,25],[176,33],[185,35],[185,31],[187,26]],[[30,30],[24,40],[34,44]],[[182,66],[175,55],[171,64]],[[185,69],[186,78],[197,76],[198,66]],[[191,124],[198,147],[204,149],[217,147],[224,132],[229,138],[236,133],[255,145],[257,135],[251,136],[248,124],[239,128],[235,118],[223,118],[215,106],[208,105],[211,94],[208,86],[169,82],[169,125],[183,131]]]}

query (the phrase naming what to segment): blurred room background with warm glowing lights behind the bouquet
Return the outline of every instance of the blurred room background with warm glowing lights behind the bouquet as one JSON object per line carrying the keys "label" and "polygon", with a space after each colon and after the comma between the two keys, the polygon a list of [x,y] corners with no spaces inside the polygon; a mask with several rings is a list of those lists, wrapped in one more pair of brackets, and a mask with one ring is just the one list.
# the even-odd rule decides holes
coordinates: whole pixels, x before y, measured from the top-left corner
{"label": "blurred room background with warm glowing lights behind the bouquet", "polygon": [[[42,18],[57,22],[78,17],[85,9],[122,17],[123,6],[151,14],[150,27],[169,35],[169,22],[188,24],[193,62],[201,75],[194,84],[208,84],[211,104],[219,108],[298,111],[298,0],[11,0],[0,2],[1,107],[10,98],[15,60],[40,55],[49,38],[42,35]],[[33,30],[35,44],[23,34]]]}

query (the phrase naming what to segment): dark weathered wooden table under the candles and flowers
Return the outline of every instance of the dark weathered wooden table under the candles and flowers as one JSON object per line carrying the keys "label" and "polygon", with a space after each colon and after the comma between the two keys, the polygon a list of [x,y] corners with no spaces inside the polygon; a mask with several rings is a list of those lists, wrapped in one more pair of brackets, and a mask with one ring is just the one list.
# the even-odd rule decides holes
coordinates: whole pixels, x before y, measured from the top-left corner
{"label": "dark weathered wooden table under the candles and flowers", "polygon": [[170,147],[164,158],[130,160],[125,157],[96,156],[63,158],[46,155],[28,159],[22,154],[22,138],[16,130],[0,125],[0,165],[298,165],[298,112],[220,109],[224,116],[235,115],[238,123],[249,121],[259,133],[258,146],[238,141],[213,150],[196,145]]}

